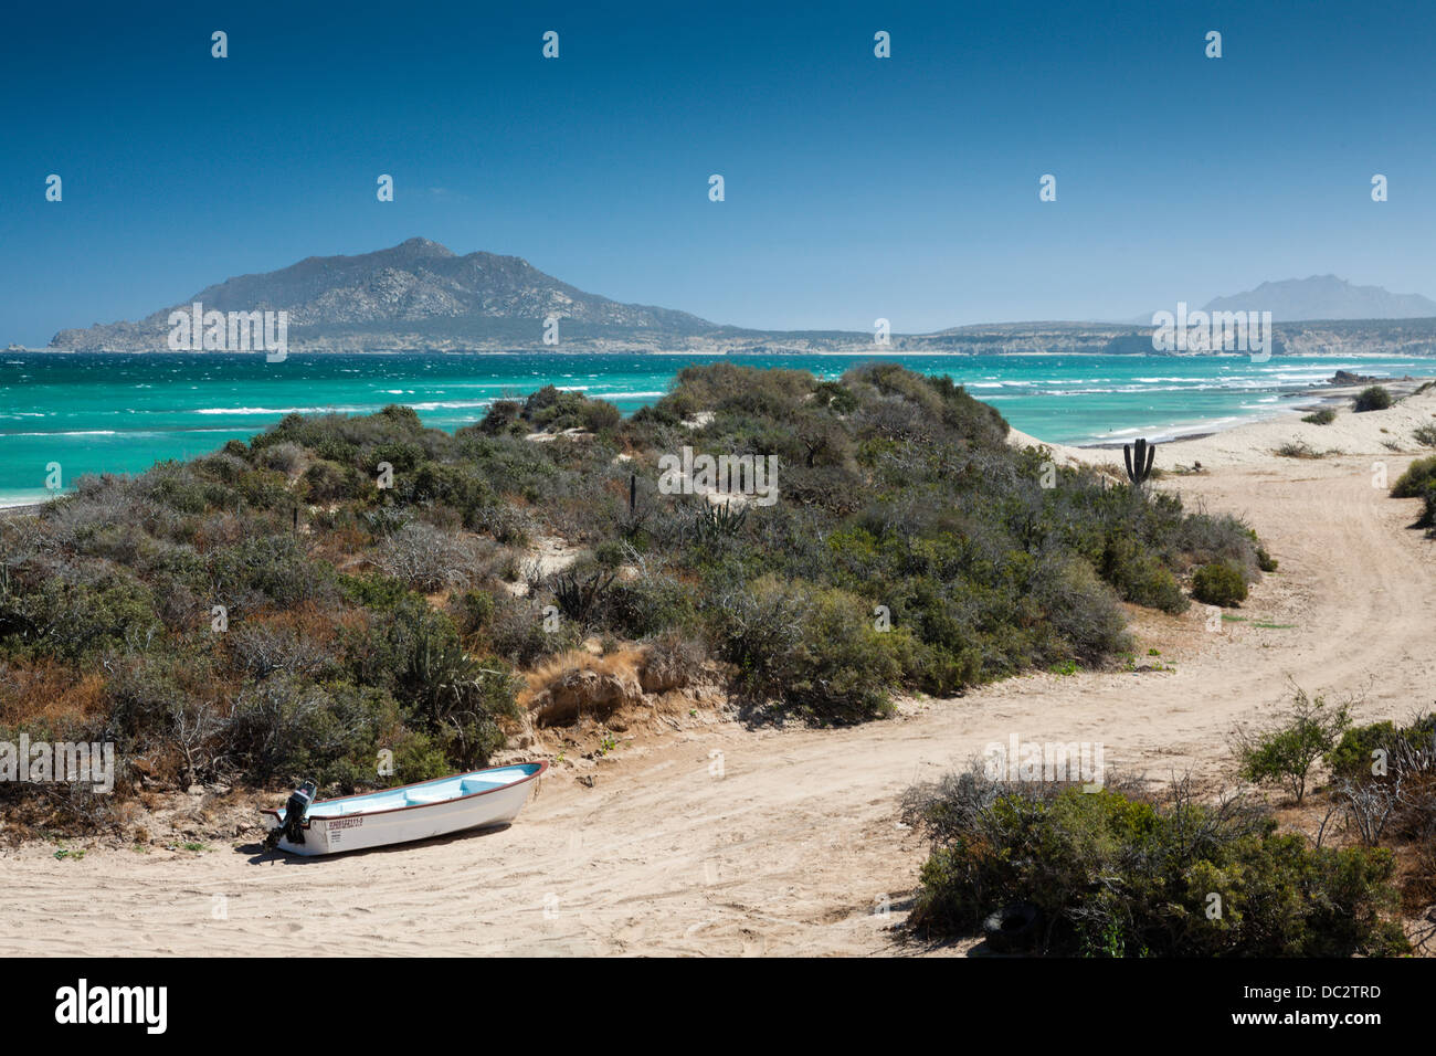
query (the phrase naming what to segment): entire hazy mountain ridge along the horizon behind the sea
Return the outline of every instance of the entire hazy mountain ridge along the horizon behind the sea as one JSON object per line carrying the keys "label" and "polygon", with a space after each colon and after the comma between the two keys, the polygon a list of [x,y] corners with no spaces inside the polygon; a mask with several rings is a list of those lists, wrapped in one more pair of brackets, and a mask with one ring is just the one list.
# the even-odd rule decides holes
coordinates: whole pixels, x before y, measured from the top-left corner
{"label": "entire hazy mountain ridge along the horizon behind the sea", "polygon": [[[725,326],[586,293],[521,257],[460,256],[428,238],[355,256],[306,257],[277,272],[227,279],[138,322],[60,330],[50,348],[162,352],[169,313],[194,302],[220,312],[284,310],[289,348],[296,352],[1152,353],[1150,318],[895,332],[887,345],[876,345],[870,330]],[[1436,355],[1436,302],[1351,286],[1335,276],[1262,283],[1218,297],[1206,309],[1272,312],[1277,355]],[[557,346],[544,343],[550,316],[559,319]]]}

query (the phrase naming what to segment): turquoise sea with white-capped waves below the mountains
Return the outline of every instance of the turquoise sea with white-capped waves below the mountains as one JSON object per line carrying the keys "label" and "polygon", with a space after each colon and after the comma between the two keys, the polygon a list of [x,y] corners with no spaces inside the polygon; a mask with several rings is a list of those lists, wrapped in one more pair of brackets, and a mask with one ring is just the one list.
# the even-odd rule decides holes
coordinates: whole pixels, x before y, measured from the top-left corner
{"label": "turquoise sea with white-capped waves below the mountains", "polygon": [[[721,356],[412,353],[92,355],[0,358],[0,506],[47,497],[46,467],[67,488],[85,473],[139,473],[247,438],[293,411],[363,414],[406,404],[454,430],[493,401],[543,385],[582,389],[625,412],[656,401],[688,363]],[[1162,438],[1277,414],[1337,369],[1429,374],[1436,361],[1248,356],[735,356],[836,378],[866,359],[946,374],[1024,432],[1064,444]]]}

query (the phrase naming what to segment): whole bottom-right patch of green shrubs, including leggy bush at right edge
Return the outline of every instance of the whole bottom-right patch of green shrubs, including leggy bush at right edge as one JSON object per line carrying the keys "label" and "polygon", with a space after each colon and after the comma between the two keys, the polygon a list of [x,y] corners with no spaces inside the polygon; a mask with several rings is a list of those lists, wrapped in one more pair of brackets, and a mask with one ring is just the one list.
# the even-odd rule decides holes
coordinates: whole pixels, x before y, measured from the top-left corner
{"label": "whole bottom-right patch of green shrubs, including leggy bush at right edge", "polygon": [[1425,947],[1436,940],[1422,920],[1436,899],[1436,714],[1353,726],[1358,703],[1294,685],[1271,726],[1234,733],[1238,774],[1277,786],[1285,805],[1198,800],[1185,779],[1017,780],[978,761],[913,786],[903,820],[931,853],[909,927],[1093,957]]}

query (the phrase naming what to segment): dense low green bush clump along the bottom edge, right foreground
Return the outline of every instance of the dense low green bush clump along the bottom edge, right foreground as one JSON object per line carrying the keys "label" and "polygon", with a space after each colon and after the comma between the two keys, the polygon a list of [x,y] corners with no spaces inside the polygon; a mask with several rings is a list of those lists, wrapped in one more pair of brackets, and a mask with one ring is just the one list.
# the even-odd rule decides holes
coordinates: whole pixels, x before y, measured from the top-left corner
{"label": "dense low green bush clump along the bottom edge, right foreground", "polygon": [[1314,848],[1242,800],[1086,793],[979,770],[908,793],[932,843],[909,922],[978,934],[1027,907],[1025,947],[1099,957],[1404,953],[1390,851]]}

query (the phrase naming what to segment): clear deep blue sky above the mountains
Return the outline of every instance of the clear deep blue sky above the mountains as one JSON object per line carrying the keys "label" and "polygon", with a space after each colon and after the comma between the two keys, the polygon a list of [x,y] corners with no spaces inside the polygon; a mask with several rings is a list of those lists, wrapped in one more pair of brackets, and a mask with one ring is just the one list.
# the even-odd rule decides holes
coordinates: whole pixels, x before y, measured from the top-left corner
{"label": "clear deep blue sky above the mountains", "polygon": [[775,329],[1321,273],[1436,296],[1433,30],[1321,0],[14,6],[0,342],[412,236]]}

